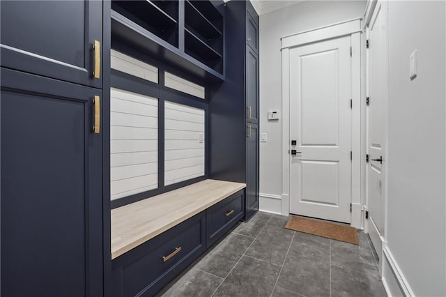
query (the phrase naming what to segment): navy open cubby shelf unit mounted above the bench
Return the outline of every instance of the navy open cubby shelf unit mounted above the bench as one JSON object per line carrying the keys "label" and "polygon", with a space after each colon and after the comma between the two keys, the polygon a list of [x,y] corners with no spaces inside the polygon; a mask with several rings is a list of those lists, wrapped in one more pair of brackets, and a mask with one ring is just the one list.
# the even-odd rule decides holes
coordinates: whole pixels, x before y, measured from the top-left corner
{"label": "navy open cubby shelf unit mounted above the bench", "polygon": [[113,0],[112,36],[222,80],[224,20],[217,7],[210,0]]}

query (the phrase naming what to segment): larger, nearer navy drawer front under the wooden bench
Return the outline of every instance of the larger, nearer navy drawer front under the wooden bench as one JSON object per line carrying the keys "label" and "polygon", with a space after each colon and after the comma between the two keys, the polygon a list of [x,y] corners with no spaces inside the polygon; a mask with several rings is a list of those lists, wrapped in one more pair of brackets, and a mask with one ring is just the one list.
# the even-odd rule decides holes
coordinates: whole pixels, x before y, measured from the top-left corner
{"label": "larger, nearer navy drawer front under the wooden bench", "polygon": [[192,263],[206,249],[204,214],[114,259],[114,296],[153,296]]}

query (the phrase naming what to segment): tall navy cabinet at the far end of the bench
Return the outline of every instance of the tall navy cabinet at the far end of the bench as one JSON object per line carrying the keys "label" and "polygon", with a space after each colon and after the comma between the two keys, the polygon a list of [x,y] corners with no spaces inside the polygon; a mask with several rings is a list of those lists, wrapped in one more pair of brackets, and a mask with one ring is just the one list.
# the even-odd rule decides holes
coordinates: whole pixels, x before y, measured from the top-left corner
{"label": "tall navy cabinet at the far end of the bench", "polygon": [[225,81],[210,91],[210,178],[246,183],[245,220],[259,209],[259,20],[249,1],[225,10]]}

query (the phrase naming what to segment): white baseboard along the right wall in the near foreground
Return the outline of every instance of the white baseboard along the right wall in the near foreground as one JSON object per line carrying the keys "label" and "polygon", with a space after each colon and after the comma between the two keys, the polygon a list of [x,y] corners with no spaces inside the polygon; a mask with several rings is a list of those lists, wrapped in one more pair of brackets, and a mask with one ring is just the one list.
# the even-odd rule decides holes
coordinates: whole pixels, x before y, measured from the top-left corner
{"label": "white baseboard along the right wall in the near foreground", "polygon": [[383,284],[387,295],[415,296],[387,246],[383,248],[383,258]]}

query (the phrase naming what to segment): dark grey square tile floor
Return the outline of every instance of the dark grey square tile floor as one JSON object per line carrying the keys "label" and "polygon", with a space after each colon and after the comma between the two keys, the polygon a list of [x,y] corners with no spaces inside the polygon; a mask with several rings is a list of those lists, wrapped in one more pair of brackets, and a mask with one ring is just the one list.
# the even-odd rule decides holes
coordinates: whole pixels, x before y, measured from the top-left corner
{"label": "dark grey square tile floor", "polygon": [[159,296],[387,296],[367,234],[352,245],[287,221],[259,212],[238,224]]}

